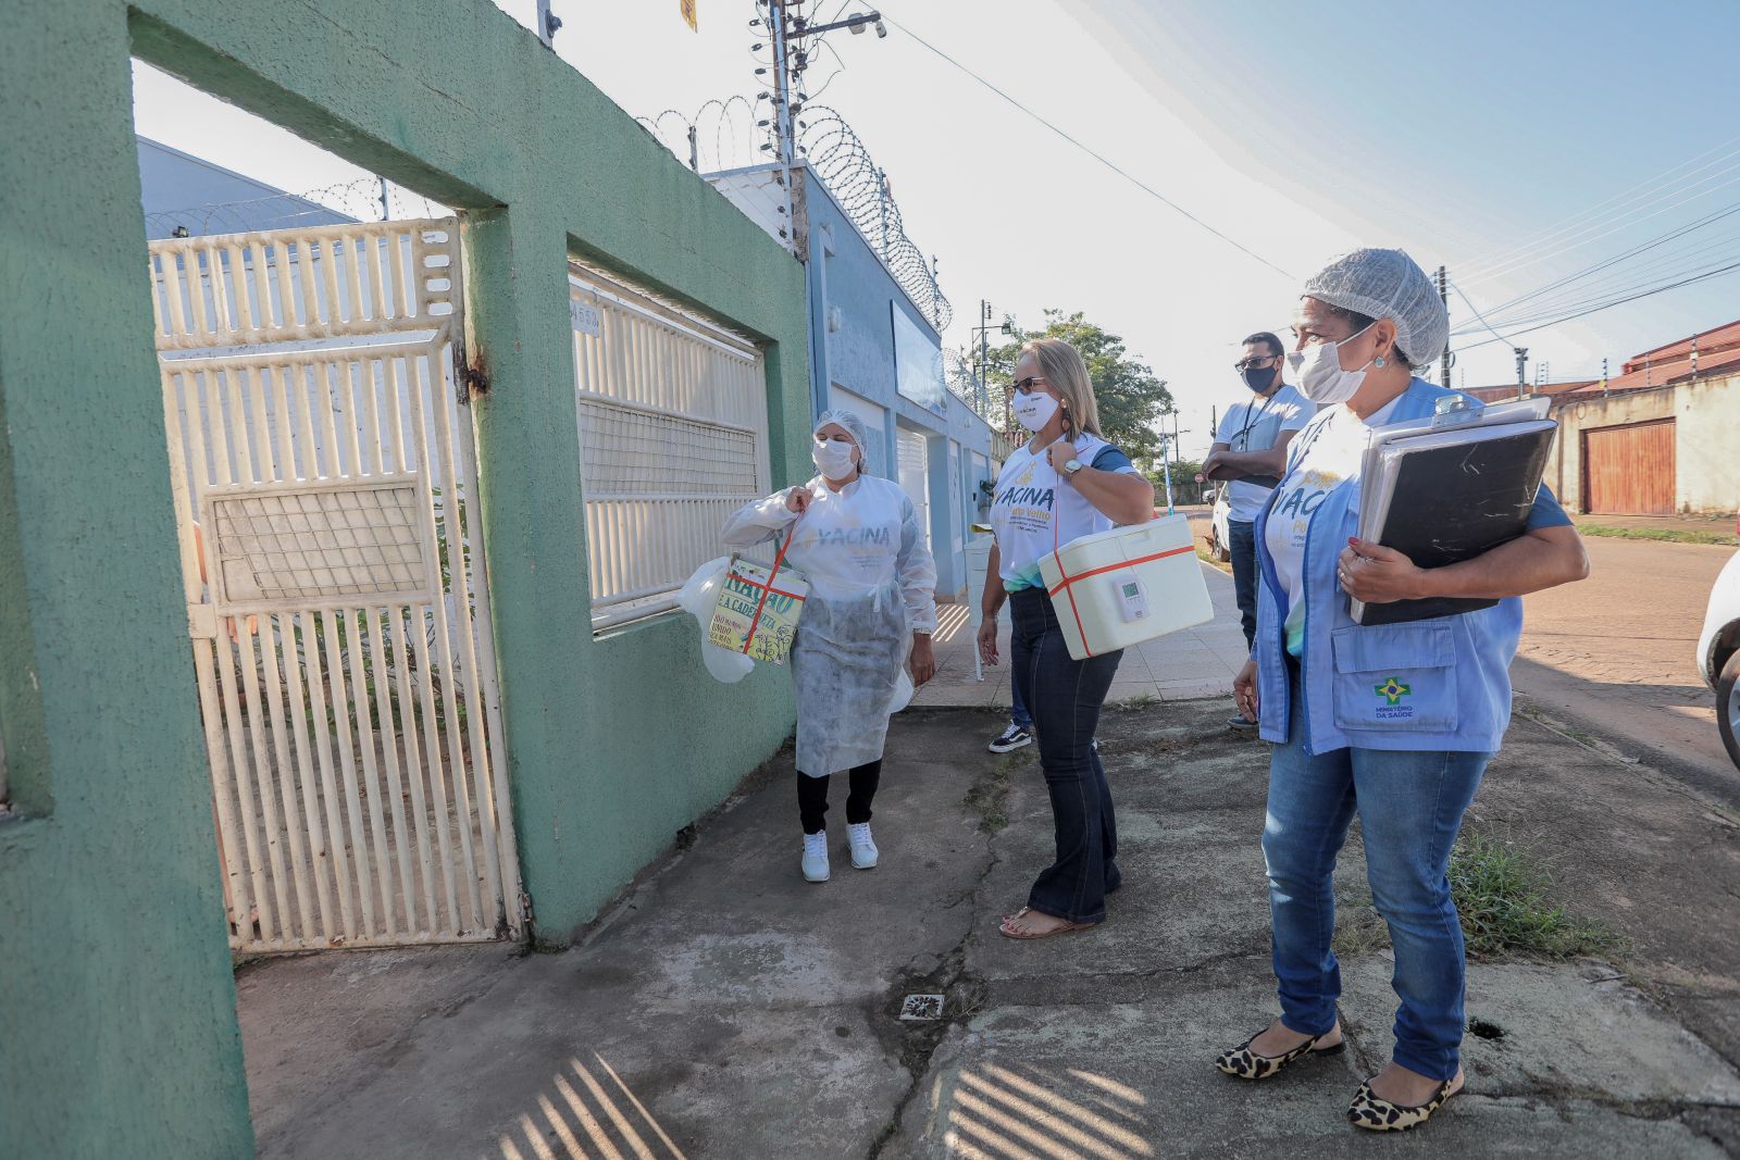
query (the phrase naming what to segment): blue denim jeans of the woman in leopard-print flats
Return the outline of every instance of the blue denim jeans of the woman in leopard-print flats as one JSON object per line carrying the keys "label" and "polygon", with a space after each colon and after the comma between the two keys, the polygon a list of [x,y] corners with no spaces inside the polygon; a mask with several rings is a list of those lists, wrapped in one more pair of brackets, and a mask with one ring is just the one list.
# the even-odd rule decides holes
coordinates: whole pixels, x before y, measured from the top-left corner
{"label": "blue denim jeans of the woman in leopard-print flats", "polygon": [[[1300,704],[1298,675],[1293,704]],[[1434,1080],[1456,1075],[1463,1019],[1462,923],[1449,897],[1449,847],[1489,753],[1335,750],[1308,757],[1303,718],[1268,765],[1263,859],[1274,917],[1281,1014],[1302,1035],[1335,1026],[1342,972],[1335,937],[1335,857],[1359,816],[1366,878],[1390,929],[1395,1063]]]}

